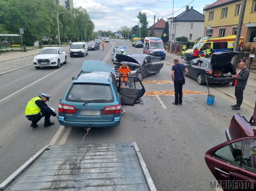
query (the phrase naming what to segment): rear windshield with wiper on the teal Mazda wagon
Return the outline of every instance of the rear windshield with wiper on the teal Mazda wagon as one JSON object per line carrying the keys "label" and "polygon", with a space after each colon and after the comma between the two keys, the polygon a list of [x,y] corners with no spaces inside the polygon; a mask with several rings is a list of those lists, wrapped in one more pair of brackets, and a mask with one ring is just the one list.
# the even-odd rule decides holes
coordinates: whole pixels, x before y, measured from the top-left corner
{"label": "rear windshield with wiper on the teal Mazda wagon", "polygon": [[[99,99],[104,99],[96,101]],[[109,84],[94,84],[94,83],[74,83],[69,89],[66,96],[66,101],[70,102],[85,102],[91,103],[111,103],[114,102],[112,88]]]}

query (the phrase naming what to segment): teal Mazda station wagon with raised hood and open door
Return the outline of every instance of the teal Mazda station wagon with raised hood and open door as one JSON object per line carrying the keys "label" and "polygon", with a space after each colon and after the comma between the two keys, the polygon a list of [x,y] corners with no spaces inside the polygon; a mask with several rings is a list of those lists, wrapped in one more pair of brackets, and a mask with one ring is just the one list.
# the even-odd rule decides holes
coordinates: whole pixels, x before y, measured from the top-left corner
{"label": "teal Mazda station wagon with raised hood and open door", "polygon": [[84,61],[59,103],[59,124],[81,128],[118,125],[121,104],[134,106],[145,93],[138,78],[128,78],[139,81],[139,86],[121,87],[110,66],[97,60]]}

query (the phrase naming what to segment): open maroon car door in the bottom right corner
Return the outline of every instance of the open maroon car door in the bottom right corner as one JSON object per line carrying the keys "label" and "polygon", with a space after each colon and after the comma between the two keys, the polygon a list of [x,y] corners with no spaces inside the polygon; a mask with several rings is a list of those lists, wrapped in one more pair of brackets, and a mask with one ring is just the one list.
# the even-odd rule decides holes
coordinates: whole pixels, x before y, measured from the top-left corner
{"label": "open maroon car door in the bottom right corner", "polygon": [[[224,191],[255,190],[256,137],[242,137],[211,148],[205,161]],[[211,183],[214,185],[214,183]]]}

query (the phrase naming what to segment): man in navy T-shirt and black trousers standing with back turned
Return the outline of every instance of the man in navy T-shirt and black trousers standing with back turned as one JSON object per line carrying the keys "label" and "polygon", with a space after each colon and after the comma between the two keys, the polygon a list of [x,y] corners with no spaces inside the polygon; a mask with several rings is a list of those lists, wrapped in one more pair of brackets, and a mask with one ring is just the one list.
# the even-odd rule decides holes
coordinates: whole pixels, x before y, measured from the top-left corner
{"label": "man in navy T-shirt and black trousers standing with back turned", "polygon": [[178,58],[174,58],[173,60],[174,66],[172,66],[172,81],[174,83],[174,93],[175,93],[175,101],[172,102],[174,105],[178,105],[178,103],[182,104],[182,87],[185,84],[184,76],[187,75],[187,68],[184,64],[179,63]]}

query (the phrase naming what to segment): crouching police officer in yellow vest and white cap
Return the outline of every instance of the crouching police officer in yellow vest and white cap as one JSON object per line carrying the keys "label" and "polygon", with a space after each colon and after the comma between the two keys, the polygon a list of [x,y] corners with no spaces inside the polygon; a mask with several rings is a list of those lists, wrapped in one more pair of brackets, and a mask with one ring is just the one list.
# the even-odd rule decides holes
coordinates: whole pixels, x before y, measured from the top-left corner
{"label": "crouching police officer in yellow vest and white cap", "polygon": [[29,121],[32,121],[30,127],[38,127],[37,122],[44,117],[44,127],[48,127],[54,124],[54,122],[50,122],[50,116],[58,117],[58,115],[53,112],[53,110],[48,107],[46,104],[51,96],[42,93],[41,96],[32,98],[29,100],[25,115]]}

